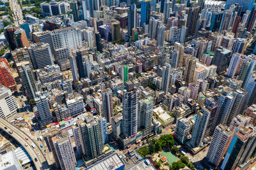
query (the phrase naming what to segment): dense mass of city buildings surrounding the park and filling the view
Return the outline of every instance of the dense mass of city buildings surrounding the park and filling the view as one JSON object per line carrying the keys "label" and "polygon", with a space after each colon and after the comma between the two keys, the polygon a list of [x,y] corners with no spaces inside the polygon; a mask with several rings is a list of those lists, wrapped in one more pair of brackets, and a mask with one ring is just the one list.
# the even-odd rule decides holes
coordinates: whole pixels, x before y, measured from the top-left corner
{"label": "dense mass of city buildings surrounding the park and filling the view", "polygon": [[115,158],[124,168],[118,155],[108,157],[109,141],[123,150],[174,125],[175,141],[192,155],[209,148],[205,169],[249,168],[256,153],[254,0],[40,7],[45,18],[26,14],[25,24],[4,27],[13,66],[0,58],[0,117],[15,118],[10,90],[21,83],[56,167]]}

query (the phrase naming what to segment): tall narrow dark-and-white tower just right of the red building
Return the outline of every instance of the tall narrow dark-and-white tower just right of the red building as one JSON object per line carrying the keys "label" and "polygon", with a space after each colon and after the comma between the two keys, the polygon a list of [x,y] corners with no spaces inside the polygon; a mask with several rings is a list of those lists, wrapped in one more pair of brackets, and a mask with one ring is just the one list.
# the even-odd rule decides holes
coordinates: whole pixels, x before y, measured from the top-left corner
{"label": "tall narrow dark-and-white tower just right of the red building", "polygon": [[28,61],[19,62],[17,70],[22,86],[26,90],[26,95],[29,99],[35,99],[35,93],[37,92],[36,78],[31,64]]}

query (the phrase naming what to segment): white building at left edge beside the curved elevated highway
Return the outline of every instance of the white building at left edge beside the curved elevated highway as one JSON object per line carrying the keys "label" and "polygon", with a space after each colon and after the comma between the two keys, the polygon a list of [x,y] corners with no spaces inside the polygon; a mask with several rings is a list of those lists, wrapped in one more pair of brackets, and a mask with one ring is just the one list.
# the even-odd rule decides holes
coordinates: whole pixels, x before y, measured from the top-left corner
{"label": "white building at left edge beside the curved elevated highway", "polygon": [[0,117],[6,120],[14,118],[17,108],[11,90],[0,84]]}

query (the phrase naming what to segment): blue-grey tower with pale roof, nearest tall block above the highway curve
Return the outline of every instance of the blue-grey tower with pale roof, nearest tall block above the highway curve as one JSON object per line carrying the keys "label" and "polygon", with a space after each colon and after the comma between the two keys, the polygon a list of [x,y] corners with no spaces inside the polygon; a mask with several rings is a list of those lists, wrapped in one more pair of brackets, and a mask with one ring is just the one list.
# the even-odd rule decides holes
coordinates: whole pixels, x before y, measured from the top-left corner
{"label": "blue-grey tower with pale roof, nearest tall block above the highway curve", "polygon": [[45,96],[37,96],[35,98],[36,108],[38,110],[38,115],[41,118],[41,126],[52,123],[52,114],[50,111],[50,106]]}

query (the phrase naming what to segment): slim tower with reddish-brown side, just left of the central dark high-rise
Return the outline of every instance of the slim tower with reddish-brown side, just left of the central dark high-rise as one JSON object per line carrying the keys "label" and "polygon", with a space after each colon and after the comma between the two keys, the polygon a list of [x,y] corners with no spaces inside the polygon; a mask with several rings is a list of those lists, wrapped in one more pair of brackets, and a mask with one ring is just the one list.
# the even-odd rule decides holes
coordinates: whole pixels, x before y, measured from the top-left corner
{"label": "slim tower with reddish-brown side, just left of the central dark high-rise", "polygon": [[107,122],[111,121],[111,117],[113,116],[113,95],[111,89],[103,89],[101,92],[102,96],[102,105],[103,105],[103,114],[102,117],[105,117]]}

